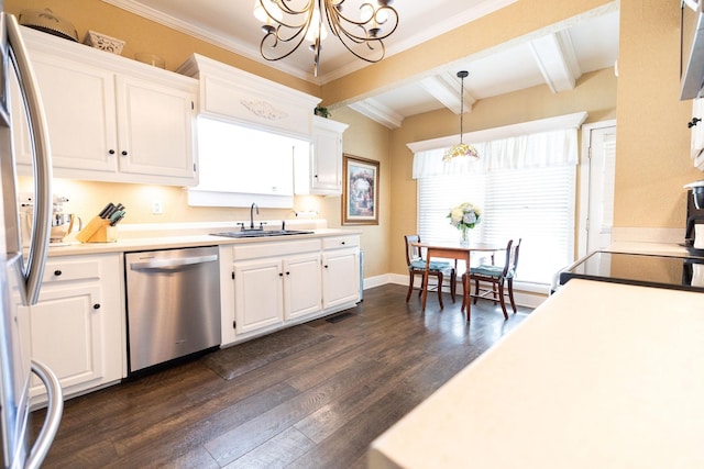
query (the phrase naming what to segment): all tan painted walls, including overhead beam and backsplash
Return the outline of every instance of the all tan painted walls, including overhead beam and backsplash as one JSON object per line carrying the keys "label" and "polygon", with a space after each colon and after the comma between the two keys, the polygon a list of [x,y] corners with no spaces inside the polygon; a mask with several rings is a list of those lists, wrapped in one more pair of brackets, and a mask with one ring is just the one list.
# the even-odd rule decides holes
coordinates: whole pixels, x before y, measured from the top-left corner
{"label": "all tan painted walls, including overhead beam and backsplash", "polygon": [[[406,144],[455,134],[458,118],[449,111],[437,111],[407,119],[402,129],[388,131],[340,107],[378,89],[403,83],[413,76],[429,74],[446,63],[468,55],[482,55],[507,41],[550,30],[561,21],[571,21],[590,14],[593,9],[608,9],[614,4],[608,0],[521,0],[320,89],[100,0],[4,1],[6,9],[13,13],[26,8],[52,8],[76,25],[81,40],[88,29],[123,38],[127,41],[124,56],[131,57],[136,52],[155,53],[166,59],[168,69],[175,69],[197,52],[301,91],[322,96],[323,102],[332,110],[333,119],[351,124],[345,133],[344,150],[381,161],[380,225],[363,227],[363,248],[369,253],[367,277],[405,270],[400,239],[404,233],[415,231],[416,226],[416,190],[415,181],[410,179],[410,152]],[[702,179],[702,172],[691,167],[688,157],[690,131],[685,124],[691,119],[691,101],[678,99],[679,2],[622,1],[620,15],[619,78],[616,85],[610,70],[604,70],[581,78],[579,88],[566,93],[552,96],[544,87],[538,87],[483,100],[469,114],[465,129],[486,129],[579,110],[588,111],[592,122],[613,119],[616,86],[615,224],[619,227],[681,228],[685,200],[681,188],[686,182]],[[147,210],[141,212],[140,208],[138,213],[131,213],[131,217],[140,222],[249,216],[245,209],[184,208],[185,193],[176,188],[84,182],[76,190],[82,191],[81,200],[100,200],[100,203],[103,200],[122,200],[125,204],[136,205],[142,192],[151,194],[150,191],[158,191],[167,213],[156,216]],[[297,198],[296,204],[298,210],[317,205],[331,226],[339,223],[339,198]],[[176,211],[172,213],[169,206]],[[289,213],[271,211],[262,216],[278,219]]]}

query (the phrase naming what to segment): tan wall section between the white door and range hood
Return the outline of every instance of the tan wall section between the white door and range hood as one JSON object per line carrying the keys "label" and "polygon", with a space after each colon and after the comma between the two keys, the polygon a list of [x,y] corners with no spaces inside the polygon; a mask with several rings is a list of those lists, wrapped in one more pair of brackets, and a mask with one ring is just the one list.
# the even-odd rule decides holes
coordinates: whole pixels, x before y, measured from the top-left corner
{"label": "tan wall section between the white door and range hood", "polygon": [[692,101],[679,100],[680,2],[622,2],[614,224],[683,228]]}

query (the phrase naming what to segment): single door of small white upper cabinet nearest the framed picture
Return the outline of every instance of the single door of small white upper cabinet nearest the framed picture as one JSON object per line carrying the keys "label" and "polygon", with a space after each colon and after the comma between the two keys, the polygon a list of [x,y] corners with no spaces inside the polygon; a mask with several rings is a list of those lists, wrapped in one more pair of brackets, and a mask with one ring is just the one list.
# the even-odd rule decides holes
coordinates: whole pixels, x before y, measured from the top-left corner
{"label": "single door of small white upper cabinet nearest the framed picture", "polygon": [[312,149],[315,193],[342,193],[342,135],[327,129],[316,129]]}

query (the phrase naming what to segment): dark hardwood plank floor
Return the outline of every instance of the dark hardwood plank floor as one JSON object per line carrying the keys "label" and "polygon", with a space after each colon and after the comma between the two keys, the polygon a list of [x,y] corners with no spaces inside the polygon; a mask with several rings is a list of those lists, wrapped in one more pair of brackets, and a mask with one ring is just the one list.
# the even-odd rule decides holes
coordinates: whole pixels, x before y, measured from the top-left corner
{"label": "dark hardwood plank floor", "polygon": [[[45,468],[364,468],[369,445],[525,319],[366,290],[334,338],[224,380],[196,359],[65,403]],[[221,351],[216,351],[221,353]],[[33,414],[36,427],[44,411]]]}

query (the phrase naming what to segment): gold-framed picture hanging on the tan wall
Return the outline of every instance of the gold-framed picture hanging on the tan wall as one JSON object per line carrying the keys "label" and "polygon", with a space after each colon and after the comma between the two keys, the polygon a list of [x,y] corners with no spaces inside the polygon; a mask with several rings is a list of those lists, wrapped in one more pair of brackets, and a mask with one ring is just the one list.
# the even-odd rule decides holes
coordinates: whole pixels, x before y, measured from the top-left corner
{"label": "gold-framed picture hanging on the tan wall", "polygon": [[378,225],[378,161],[342,155],[342,224]]}

